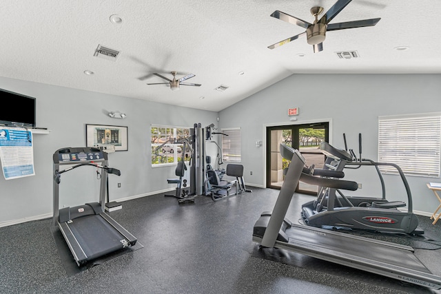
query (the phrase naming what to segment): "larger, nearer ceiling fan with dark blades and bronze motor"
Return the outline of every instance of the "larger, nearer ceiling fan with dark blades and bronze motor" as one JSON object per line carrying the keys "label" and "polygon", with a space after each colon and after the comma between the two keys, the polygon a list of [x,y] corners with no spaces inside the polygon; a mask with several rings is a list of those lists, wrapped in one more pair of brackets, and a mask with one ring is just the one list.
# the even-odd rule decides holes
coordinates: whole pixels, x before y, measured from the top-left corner
{"label": "larger, nearer ceiling fan with dark blades and bronze motor", "polygon": [[292,17],[289,14],[281,12],[279,10],[274,11],[271,17],[280,19],[282,21],[287,21],[288,23],[293,23],[295,25],[300,25],[300,27],[305,28],[306,31],[296,36],[291,36],[291,38],[285,39],[278,43],[268,46],[269,49],[278,48],[281,45],[289,43],[298,39],[300,36],[307,36],[307,42],[309,45],[314,46],[314,53],[323,50],[323,41],[326,38],[326,32],[331,30],[345,30],[350,28],[362,28],[372,25],[376,25],[380,18],[378,19],[363,19],[360,21],[347,21],[345,23],[329,23],[336,17],[336,15],[343,10],[352,0],[338,0],[334,5],[329,8],[329,10],[320,18],[318,16],[322,14],[323,8],[316,6],[311,8],[311,14],[316,17],[314,23],[308,23],[307,21],[302,21],[297,17]]}

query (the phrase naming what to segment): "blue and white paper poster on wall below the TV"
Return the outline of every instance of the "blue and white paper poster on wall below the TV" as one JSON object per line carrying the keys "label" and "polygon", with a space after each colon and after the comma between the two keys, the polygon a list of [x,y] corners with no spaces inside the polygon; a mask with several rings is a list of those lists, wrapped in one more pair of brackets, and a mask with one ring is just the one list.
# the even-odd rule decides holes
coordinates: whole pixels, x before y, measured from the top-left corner
{"label": "blue and white paper poster on wall below the TV", "polygon": [[6,180],[34,176],[32,132],[0,126],[0,162]]}

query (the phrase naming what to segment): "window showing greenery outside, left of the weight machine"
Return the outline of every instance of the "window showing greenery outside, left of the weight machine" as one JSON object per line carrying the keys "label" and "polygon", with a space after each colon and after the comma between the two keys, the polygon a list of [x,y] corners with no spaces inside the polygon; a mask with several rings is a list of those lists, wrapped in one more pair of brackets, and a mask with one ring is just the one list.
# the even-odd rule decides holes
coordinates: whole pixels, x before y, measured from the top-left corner
{"label": "window showing greenery outside, left of the weight machine", "polygon": [[152,125],[150,132],[152,166],[175,165],[183,157],[188,161],[192,156],[187,146],[183,153],[183,138],[189,137],[189,128]]}

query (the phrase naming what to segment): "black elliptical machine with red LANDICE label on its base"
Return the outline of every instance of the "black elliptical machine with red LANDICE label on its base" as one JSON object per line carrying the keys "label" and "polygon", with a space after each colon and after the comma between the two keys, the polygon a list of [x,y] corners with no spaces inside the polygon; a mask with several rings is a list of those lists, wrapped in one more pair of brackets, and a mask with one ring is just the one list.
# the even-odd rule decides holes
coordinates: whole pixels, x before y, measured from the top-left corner
{"label": "black elliptical machine with red LANDICE label on its base", "polygon": [[[365,231],[387,233],[409,233],[422,235],[424,231],[418,227],[418,218],[412,212],[412,196],[402,169],[389,162],[374,162],[361,156],[361,134],[359,134],[360,158],[353,150],[347,151],[346,136],[345,150],[337,149],[326,142],[320,144],[320,149],[327,159],[324,169],[343,171],[345,168],[358,169],[362,166],[376,168],[382,185],[382,198],[345,196],[339,189],[319,187],[316,200],[302,205],[302,218],[312,227],[349,228]],[[394,167],[407,191],[407,204],[402,201],[389,202],[386,199],[384,179],[381,165]],[[338,195],[337,195],[338,193]],[[406,207],[407,211],[399,210]]]}

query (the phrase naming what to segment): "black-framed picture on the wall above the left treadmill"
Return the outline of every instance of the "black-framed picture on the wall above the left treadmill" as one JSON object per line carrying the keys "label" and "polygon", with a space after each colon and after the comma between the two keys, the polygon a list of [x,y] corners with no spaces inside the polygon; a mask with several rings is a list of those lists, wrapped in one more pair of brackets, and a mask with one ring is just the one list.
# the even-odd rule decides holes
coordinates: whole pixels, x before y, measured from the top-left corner
{"label": "black-framed picture on the wall above the left treadmill", "polygon": [[113,145],[115,151],[127,151],[127,127],[119,125],[85,125],[87,147]]}

